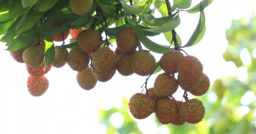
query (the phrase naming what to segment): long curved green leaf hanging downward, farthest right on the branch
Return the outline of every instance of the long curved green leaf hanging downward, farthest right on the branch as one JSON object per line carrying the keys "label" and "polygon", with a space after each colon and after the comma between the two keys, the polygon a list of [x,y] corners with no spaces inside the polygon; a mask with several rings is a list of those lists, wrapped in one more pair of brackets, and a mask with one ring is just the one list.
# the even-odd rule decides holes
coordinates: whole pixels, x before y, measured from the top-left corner
{"label": "long curved green leaf hanging downward, farthest right on the branch", "polygon": [[[202,7],[201,7],[202,8]],[[205,13],[203,10],[200,11],[200,18],[199,18],[199,22],[197,24],[197,27],[195,28],[194,33],[192,34],[192,36],[190,37],[189,41],[187,42],[186,45],[182,46],[182,47],[189,47],[189,46],[193,46],[195,44],[197,44],[199,41],[201,41],[201,39],[204,36],[205,33]]]}

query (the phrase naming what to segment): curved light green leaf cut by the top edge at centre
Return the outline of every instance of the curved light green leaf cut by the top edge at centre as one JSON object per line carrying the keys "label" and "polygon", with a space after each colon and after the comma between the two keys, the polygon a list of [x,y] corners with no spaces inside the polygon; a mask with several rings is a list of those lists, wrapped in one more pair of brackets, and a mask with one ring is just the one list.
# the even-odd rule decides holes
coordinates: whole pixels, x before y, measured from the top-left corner
{"label": "curved light green leaf cut by the top edge at centre", "polygon": [[123,10],[130,15],[136,15],[144,10],[144,6],[128,5],[124,0],[120,0]]}

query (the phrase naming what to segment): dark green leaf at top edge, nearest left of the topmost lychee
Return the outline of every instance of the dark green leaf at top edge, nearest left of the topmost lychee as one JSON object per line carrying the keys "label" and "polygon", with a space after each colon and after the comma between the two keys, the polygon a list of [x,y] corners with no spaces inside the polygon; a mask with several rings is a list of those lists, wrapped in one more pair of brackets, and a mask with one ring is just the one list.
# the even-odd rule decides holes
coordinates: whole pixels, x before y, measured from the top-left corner
{"label": "dark green leaf at top edge, nearest left of the topmost lychee", "polygon": [[39,12],[45,12],[51,8],[58,2],[59,0],[39,0],[35,9]]}

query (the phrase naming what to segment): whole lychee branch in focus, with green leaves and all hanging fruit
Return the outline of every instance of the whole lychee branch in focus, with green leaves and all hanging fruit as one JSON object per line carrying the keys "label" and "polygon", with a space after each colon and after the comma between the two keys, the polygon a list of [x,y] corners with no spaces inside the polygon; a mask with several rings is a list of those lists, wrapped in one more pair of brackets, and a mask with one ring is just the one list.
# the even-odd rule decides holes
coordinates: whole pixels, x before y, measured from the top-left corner
{"label": "whole lychee branch in focus, with green leaves and all hanging fruit", "polygon": [[[60,68],[66,63],[77,71],[77,82],[85,90],[91,90],[97,81],[110,80],[116,70],[124,76],[148,75],[141,87],[145,94],[136,93],[129,102],[131,114],[144,119],[155,112],[162,124],[195,124],[203,119],[205,108],[200,100],[189,100],[187,92],[203,95],[210,83],[199,59],[184,49],[203,38],[204,9],[213,0],[203,0],[194,7],[190,7],[191,2],[173,0],[171,5],[169,0],[0,0],[0,41],[6,42],[6,50],[16,61],[27,64],[27,70],[39,67],[29,72],[27,81],[33,96],[47,90],[44,74],[51,66]],[[156,11],[162,17],[155,18]],[[186,44],[175,31],[181,21],[180,12],[200,15]],[[69,31],[72,39],[67,43],[64,40]],[[169,44],[150,40],[150,36],[160,33]],[[63,43],[56,46],[55,41]],[[68,52],[68,48],[72,50]],[[163,56],[157,62],[150,52]],[[149,90],[150,76],[162,69],[165,73],[157,76]],[[172,94],[179,86],[184,90],[184,99],[175,100]]]}

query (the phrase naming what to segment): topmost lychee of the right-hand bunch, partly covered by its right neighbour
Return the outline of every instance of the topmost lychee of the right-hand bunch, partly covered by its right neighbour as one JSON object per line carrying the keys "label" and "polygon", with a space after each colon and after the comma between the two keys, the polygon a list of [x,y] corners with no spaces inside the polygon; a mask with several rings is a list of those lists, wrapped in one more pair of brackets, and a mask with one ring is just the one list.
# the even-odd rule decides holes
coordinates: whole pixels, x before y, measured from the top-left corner
{"label": "topmost lychee of the right-hand bunch, partly covered by its right neighbour", "polygon": [[171,50],[163,54],[160,59],[160,67],[168,74],[178,72],[177,66],[184,55],[178,50]]}

